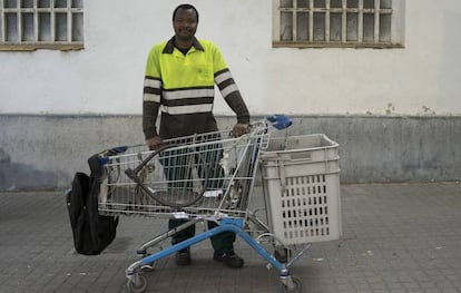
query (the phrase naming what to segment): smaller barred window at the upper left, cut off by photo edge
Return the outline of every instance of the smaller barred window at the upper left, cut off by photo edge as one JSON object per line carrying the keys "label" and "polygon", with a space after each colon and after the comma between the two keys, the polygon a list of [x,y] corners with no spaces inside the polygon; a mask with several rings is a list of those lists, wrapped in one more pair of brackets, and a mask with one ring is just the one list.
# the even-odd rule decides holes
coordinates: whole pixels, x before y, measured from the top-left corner
{"label": "smaller barred window at the upper left, cut off by photo edge", "polygon": [[84,48],[84,0],[0,0],[0,50]]}

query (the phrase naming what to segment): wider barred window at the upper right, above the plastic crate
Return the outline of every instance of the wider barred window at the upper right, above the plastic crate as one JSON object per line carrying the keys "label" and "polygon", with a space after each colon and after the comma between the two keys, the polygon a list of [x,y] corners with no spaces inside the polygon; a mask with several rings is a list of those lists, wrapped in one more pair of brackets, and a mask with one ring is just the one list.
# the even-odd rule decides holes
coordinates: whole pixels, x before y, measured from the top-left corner
{"label": "wider barred window at the upper right, above the plastic crate", "polygon": [[402,47],[404,0],[273,0],[274,47]]}

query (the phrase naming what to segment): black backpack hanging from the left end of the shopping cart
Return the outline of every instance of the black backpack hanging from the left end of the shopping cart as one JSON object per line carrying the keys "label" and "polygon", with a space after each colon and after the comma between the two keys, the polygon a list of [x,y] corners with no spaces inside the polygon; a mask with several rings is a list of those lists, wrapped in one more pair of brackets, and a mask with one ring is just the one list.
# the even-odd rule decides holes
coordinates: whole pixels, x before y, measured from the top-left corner
{"label": "black backpack hanging from the left end of the shopping cart", "polygon": [[116,237],[118,217],[98,214],[98,195],[102,166],[99,155],[88,159],[90,176],[76,173],[72,188],[67,193],[67,209],[73,234],[73,246],[79,254],[100,254]]}

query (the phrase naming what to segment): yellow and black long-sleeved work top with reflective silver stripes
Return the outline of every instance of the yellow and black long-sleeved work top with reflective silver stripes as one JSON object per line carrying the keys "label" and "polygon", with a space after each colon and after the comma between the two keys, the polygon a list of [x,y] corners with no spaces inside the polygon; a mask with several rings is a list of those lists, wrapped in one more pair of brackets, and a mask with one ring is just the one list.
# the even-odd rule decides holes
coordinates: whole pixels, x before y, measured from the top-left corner
{"label": "yellow and black long-sleeved work top with reflective silver stripes", "polygon": [[174,38],[151,48],[146,62],[143,128],[146,138],[157,135],[160,110],[163,138],[217,130],[213,115],[214,85],[237,115],[248,124],[249,114],[223,55],[215,43],[194,39],[183,53]]}

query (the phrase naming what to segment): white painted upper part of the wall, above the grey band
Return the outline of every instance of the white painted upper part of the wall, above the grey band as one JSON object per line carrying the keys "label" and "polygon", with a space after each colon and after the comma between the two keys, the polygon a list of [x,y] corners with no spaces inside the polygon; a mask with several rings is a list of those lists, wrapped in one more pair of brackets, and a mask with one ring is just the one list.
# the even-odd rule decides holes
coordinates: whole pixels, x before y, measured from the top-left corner
{"label": "white painted upper part of the wall, above the grey band", "polygon": [[[150,47],[183,1],[85,1],[85,49],[0,52],[0,114],[141,113]],[[190,1],[252,114],[460,115],[461,2],[406,0],[403,49],[272,48],[272,2]],[[220,97],[216,114],[232,114]]]}

